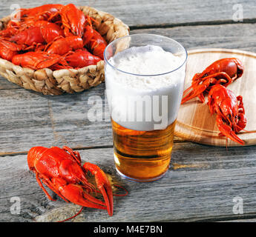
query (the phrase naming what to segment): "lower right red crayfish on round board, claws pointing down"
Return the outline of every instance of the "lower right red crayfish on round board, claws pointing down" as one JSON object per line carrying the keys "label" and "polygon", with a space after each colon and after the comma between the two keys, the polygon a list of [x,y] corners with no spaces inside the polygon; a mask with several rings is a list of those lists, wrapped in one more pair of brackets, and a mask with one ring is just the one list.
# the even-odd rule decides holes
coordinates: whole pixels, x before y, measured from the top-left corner
{"label": "lower right red crayfish on round board, claws pointing down", "polygon": [[217,84],[211,87],[208,96],[211,114],[217,113],[216,122],[220,135],[244,144],[236,133],[246,127],[246,117],[242,96],[234,96],[232,90]]}

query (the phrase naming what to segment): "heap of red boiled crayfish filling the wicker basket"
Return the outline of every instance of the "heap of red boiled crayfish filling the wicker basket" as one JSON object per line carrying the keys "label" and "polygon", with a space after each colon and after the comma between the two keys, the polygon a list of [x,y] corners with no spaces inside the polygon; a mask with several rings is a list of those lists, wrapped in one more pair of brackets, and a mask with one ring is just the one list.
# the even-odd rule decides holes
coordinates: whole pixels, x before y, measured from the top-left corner
{"label": "heap of red boiled crayfish filling the wicker basket", "polygon": [[0,31],[0,57],[33,70],[97,64],[107,42],[93,21],[74,4],[20,9]]}

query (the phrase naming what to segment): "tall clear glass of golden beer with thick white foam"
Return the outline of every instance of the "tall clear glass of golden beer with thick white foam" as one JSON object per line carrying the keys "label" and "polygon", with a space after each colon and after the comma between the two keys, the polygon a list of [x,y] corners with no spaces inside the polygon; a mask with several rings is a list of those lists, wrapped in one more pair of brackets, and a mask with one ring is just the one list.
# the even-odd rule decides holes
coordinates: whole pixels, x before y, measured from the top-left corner
{"label": "tall clear glass of golden beer with thick white foam", "polygon": [[187,52],[168,37],[134,34],[108,44],[104,58],[116,170],[157,180],[171,161]]}

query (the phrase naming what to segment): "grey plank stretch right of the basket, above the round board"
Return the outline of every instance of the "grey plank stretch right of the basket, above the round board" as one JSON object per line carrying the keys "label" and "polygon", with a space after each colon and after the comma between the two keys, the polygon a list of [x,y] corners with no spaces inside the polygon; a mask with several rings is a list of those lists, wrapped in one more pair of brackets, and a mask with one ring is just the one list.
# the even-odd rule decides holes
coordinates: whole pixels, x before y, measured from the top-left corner
{"label": "grey plank stretch right of the basket, above the round board", "polygon": [[240,49],[256,52],[256,24],[221,24],[173,28],[132,30],[167,36],[183,44],[187,50],[199,48]]}

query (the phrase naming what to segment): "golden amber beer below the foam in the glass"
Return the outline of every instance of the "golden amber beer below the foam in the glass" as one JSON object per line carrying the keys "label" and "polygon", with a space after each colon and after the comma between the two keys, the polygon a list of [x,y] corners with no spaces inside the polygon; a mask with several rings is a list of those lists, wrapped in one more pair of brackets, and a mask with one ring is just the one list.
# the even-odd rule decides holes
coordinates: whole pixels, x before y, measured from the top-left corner
{"label": "golden amber beer below the foam in the glass", "polygon": [[120,175],[136,181],[163,176],[171,161],[176,120],[164,130],[137,131],[113,119],[114,161]]}

